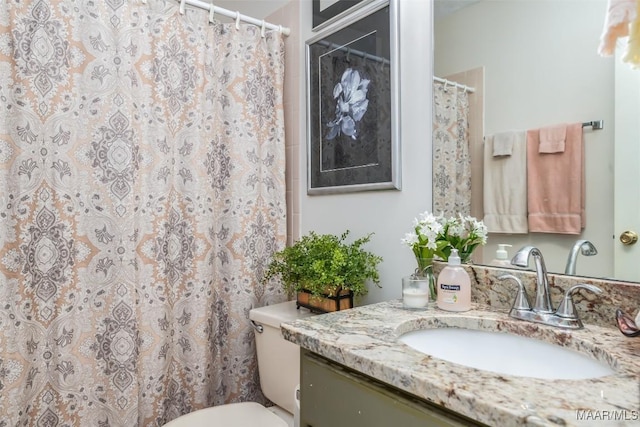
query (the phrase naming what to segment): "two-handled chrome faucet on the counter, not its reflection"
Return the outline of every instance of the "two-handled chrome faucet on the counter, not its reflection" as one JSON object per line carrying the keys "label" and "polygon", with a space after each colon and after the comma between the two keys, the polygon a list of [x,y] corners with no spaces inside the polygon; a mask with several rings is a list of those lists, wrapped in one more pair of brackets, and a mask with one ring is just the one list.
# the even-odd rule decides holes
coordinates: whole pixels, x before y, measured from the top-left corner
{"label": "two-handled chrome faucet on the counter, not its reflection", "polygon": [[565,293],[558,309],[554,310],[553,305],[551,304],[547,268],[544,265],[544,258],[542,257],[540,250],[534,246],[525,246],[516,253],[511,260],[511,264],[519,267],[527,267],[529,264],[529,256],[533,257],[536,266],[536,299],[533,308],[529,303],[527,291],[518,277],[512,274],[505,274],[498,277],[499,280],[514,280],[518,285],[516,298],[513,302],[509,315],[516,319],[543,323],[545,325],[558,326],[561,328],[582,328],[582,321],[578,317],[578,313],[573,303],[573,293],[578,289],[586,289],[599,294],[602,290],[597,286],[584,283],[572,286]]}

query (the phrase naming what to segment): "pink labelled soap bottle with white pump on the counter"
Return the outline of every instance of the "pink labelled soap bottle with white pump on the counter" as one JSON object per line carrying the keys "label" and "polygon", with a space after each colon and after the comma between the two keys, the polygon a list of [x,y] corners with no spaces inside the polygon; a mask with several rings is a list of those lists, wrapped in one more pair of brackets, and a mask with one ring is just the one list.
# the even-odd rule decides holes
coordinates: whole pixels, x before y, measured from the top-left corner
{"label": "pink labelled soap bottle with white pump on the counter", "polygon": [[451,249],[449,262],[438,275],[438,308],[446,311],[471,309],[471,279],[460,265],[457,249]]}

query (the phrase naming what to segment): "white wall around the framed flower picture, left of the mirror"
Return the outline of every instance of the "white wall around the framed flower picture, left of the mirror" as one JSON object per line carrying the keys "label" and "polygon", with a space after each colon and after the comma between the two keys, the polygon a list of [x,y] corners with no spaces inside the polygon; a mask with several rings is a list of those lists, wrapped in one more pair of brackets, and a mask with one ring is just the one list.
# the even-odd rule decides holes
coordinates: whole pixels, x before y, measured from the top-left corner
{"label": "white wall around the framed flower picture, left of the mirror", "polygon": [[[370,288],[360,303],[400,298],[401,277],[415,269],[411,250],[400,243],[418,213],[431,209],[431,2],[401,0],[400,98],[402,191],[376,191],[307,196],[300,186],[301,233],[340,234],[349,229],[354,237],[374,232],[367,249],[384,258],[381,285]],[[311,2],[301,4],[303,40],[312,38]],[[301,57],[304,58],[304,43]],[[301,64],[304,69],[304,64]],[[304,75],[304,73],[302,74]],[[304,82],[300,82],[301,105],[306,105]],[[301,130],[301,141],[306,140]],[[304,145],[306,147],[306,145]],[[300,177],[305,182],[306,150],[301,150]]]}

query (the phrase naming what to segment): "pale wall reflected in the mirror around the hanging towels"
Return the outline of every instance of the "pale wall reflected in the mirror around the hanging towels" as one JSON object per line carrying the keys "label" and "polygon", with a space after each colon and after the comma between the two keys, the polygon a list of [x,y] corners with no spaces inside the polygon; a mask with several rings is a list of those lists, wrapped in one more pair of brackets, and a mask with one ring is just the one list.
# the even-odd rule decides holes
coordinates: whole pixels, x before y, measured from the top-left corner
{"label": "pale wall reflected in the mirror around the hanging towels", "polygon": [[485,68],[486,134],[563,122],[605,123],[604,130],[584,133],[587,226],[582,235],[493,235],[485,262],[498,243],[512,244],[512,255],[533,244],[549,271],[562,272],[573,242],[586,238],[599,253],[579,258],[578,274],[613,274],[614,60],[597,55],[606,7],[606,0],[484,0],[435,25],[436,75]]}

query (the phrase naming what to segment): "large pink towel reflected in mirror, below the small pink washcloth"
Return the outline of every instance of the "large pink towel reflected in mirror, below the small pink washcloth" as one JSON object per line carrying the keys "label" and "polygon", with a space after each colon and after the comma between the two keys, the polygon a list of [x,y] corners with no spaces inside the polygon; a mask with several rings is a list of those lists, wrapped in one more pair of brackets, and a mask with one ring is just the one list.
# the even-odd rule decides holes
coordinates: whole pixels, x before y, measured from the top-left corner
{"label": "large pink towel reflected in mirror, below the small pink washcloth", "polygon": [[540,130],[527,131],[529,232],[580,234],[584,215],[582,123],[567,126],[565,150],[540,153]]}

